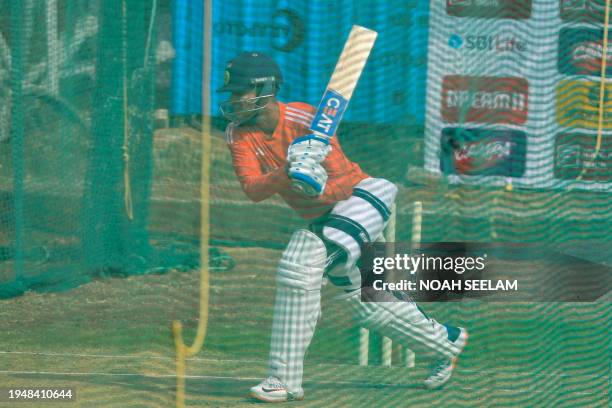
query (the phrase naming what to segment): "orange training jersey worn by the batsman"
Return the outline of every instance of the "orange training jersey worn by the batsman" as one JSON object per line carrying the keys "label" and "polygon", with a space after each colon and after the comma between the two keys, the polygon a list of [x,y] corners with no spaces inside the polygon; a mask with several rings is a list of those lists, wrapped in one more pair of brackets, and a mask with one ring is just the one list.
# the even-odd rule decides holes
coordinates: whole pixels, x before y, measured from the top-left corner
{"label": "orange training jersey worn by the batsman", "polygon": [[350,197],[353,186],[369,176],[344,155],[334,137],[332,150],[322,163],[328,175],[323,194],[306,197],[293,191],[285,172],[287,150],[294,139],[312,133],[308,127],[315,108],[301,102],[278,105],[279,122],[271,137],[256,127],[228,125],[225,135],[234,171],[251,200],[261,201],[278,193],[303,218],[319,217]]}

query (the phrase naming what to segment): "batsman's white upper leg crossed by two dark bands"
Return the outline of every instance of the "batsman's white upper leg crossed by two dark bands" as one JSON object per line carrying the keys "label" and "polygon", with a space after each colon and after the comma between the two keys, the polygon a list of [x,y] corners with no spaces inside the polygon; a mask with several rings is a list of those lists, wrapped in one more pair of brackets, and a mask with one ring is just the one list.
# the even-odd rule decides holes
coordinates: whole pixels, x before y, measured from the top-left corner
{"label": "batsman's white upper leg crossed by two dark bands", "polygon": [[361,244],[374,242],[382,235],[391,215],[397,187],[385,179],[367,178],[353,189],[353,195],[338,202],[323,227],[325,239],[347,253],[346,271],[352,289],[361,286],[355,264],[361,256]]}

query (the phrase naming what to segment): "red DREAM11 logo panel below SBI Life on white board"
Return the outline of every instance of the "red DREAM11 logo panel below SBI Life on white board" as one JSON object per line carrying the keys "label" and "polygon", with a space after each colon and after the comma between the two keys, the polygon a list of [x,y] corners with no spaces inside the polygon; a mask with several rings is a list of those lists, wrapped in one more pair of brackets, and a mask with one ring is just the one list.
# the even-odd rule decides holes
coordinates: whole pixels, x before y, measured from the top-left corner
{"label": "red DREAM11 logo panel below SBI Life on white board", "polygon": [[529,85],[524,78],[445,76],[442,82],[442,119],[449,123],[527,121]]}

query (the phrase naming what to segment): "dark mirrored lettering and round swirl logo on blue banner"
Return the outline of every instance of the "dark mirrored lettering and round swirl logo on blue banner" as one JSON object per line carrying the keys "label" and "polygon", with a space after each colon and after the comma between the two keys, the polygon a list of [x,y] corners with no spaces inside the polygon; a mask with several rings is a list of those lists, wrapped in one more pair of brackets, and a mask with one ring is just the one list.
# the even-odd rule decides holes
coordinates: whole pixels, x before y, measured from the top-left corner
{"label": "dark mirrored lettering and round swirl logo on blue banner", "polygon": [[305,37],[302,18],[293,10],[278,9],[271,22],[245,24],[239,20],[221,20],[213,24],[215,34],[236,37],[269,37],[271,47],[278,51],[291,52]]}

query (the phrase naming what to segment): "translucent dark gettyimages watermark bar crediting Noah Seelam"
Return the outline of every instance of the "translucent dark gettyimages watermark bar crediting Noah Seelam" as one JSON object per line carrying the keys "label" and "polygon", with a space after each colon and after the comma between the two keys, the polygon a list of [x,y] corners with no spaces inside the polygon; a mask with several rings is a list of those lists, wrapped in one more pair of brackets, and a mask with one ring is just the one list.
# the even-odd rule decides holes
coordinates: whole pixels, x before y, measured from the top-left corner
{"label": "translucent dark gettyimages watermark bar crediting Noah Seelam", "polygon": [[612,291],[612,268],[601,250],[593,254],[592,248],[606,246],[588,244],[366,244],[359,265],[361,298],[367,302],[593,301]]}

